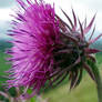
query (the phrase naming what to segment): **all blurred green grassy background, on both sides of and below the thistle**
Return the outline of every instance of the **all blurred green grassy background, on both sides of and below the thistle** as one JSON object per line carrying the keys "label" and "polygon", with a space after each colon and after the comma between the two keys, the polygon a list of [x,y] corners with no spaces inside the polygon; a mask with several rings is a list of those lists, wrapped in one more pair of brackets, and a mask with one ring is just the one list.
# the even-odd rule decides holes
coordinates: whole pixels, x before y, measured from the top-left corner
{"label": "all blurred green grassy background, on both sides of and below the thistle", "polygon": [[[0,76],[4,75],[4,71],[10,68],[10,64],[6,63],[7,57],[7,54],[0,51]],[[96,54],[96,59],[98,65],[101,68],[102,53]],[[0,85],[6,79],[0,78]],[[69,83],[64,82],[64,84],[43,93],[42,96],[43,99],[48,98],[48,102],[98,102],[95,84],[88,74],[83,76],[80,85],[71,90],[71,92],[69,91]]]}

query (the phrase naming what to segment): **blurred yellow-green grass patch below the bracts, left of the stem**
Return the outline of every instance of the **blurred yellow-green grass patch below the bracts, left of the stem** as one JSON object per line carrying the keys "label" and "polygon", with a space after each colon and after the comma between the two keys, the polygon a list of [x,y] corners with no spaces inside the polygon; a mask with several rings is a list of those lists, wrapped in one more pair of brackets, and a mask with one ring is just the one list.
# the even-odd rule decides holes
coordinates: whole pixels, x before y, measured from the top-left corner
{"label": "blurred yellow-green grass patch below the bracts, left of the stem", "polygon": [[88,74],[76,89],[69,91],[69,84],[64,84],[43,94],[49,102],[98,102],[94,82]]}

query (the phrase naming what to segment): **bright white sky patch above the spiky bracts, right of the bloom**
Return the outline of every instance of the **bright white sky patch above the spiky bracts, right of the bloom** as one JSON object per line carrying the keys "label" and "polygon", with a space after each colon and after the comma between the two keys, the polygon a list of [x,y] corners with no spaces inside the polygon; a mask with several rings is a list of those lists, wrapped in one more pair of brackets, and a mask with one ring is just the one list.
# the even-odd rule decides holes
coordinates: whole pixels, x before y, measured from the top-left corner
{"label": "bright white sky patch above the spiky bracts, right of the bloom", "polygon": [[48,2],[54,2],[57,13],[67,21],[59,7],[61,7],[71,17],[71,8],[74,9],[76,16],[83,21],[88,18],[88,22],[96,13],[95,26],[98,32],[102,32],[102,0],[48,0]]}

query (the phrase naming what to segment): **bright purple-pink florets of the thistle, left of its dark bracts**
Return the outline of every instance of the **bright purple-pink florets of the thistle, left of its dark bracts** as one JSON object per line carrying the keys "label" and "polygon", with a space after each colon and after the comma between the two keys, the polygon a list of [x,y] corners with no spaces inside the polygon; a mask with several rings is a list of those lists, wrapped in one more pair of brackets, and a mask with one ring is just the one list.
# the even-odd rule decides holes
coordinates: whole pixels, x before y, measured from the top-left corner
{"label": "bright purple-pink florets of the thistle, left of its dark bracts", "polygon": [[[59,21],[55,19],[54,8],[44,2],[27,6],[18,0],[24,12],[18,11],[17,21],[13,21],[13,47],[8,53],[12,58],[11,86],[33,88],[33,94],[44,85],[53,72],[53,50],[60,43]],[[32,96],[31,95],[31,96]]]}

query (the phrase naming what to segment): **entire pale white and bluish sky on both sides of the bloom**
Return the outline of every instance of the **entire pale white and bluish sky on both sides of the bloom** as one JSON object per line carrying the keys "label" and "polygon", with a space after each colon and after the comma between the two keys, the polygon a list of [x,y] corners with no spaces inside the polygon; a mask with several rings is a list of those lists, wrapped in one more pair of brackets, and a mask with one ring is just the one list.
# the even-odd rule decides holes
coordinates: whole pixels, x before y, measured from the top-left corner
{"label": "entire pale white and bluish sky on both sides of the bloom", "polygon": [[[24,0],[26,1],[26,0]],[[33,1],[33,0],[32,0]],[[61,9],[63,9],[69,17],[72,17],[71,8],[75,11],[78,18],[81,21],[84,18],[88,18],[88,22],[90,22],[91,18],[96,13],[96,18],[94,24],[96,27],[96,34],[102,32],[102,0],[44,0],[45,2],[50,2],[55,7],[55,12],[67,21]],[[10,14],[13,13],[13,9],[16,9],[16,0],[0,0],[0,38],[7,39],[8,35],[7,30],[10,29],[10,21],[12,18]],[[60,9],[61,8],[61,9]]]}

